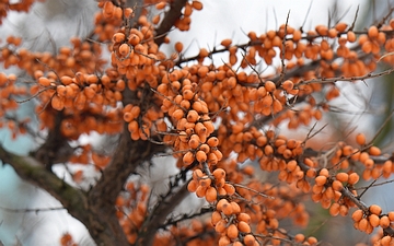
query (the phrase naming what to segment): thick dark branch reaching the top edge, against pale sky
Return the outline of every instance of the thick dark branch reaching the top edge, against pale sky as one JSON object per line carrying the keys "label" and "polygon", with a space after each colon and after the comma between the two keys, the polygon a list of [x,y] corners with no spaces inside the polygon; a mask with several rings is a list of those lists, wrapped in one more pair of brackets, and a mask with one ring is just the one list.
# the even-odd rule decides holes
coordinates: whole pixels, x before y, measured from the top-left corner
{"label": "thick dark branch reaching the top edge, against pale sky", "polygon": [[171,31],[171,27],[175,24],[176,20],[182,16],[182,9],[185,7],[187,0],[174,0],[171,2],[170,10],[165,13],[165,16],[160,24],[160,26],[155,30],[157,38],[154,42],[160,46],[164,42],[164,37],[166,33]]}

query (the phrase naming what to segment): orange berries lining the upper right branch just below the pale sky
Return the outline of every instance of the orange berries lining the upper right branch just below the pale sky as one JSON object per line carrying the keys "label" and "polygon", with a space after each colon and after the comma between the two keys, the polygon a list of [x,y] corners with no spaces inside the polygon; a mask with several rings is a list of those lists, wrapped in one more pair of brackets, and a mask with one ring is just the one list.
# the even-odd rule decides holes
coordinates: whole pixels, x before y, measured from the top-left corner
{"label": "orange berries lining the upper right branch just below the pale sky", "polygon": [[[358,43],[364,54],[373,54],[372,59],[362,61],[360,55],[351,50],[348,44],[357,42],[357,35],[346,23],[338,23],[332,28],[324,25],[317,25],[315,31],[303,33],[289,25],[281,25],[278,31],[268,31],[259,36],[256,33],[248,33],[250,43],[247,45],[231,46],[231,39],[224,39],[221,45],[229,51],[229,61],[235,66],[237,61],[236,52],[240,48],[246,48],[246,52],[241,61],[241,67],[255,66],[262,58],[266,65],[273,65],[273,59],[277,56],[276,48],[279,49],[280,56],[286,60],[286,68],[293,69],[304,65],[304,59],[320,60],[321,66],[325,69],[320,70],[321,78],[333,78],[337,72],[345,77],[366,75],[375,68],[375,62],[380,58],[381,46],[389,44],[386,35],[393,31],[391,21],[390,25],[383,25],[378,28],[371,26],[368,32],[359,36]],[[322,38],[320,42],[314,42]],[[386,50],[389,51],[389,50]],[[332,61],[337,57],[345,58],[343,66]],[[297,61],[294,61],[294,59]],[[391,58],[387,58],[389,61]],[[317,74],[316,74],[317,75]]]}

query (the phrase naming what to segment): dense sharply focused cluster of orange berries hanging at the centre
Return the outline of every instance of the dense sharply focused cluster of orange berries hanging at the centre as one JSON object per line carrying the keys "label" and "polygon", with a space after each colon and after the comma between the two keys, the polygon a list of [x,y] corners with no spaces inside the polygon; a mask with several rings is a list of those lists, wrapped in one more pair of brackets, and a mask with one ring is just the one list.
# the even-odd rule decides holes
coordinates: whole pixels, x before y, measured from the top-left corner
{"label": "dense sharply focused cluster of orange berries hanging at the centre", "polygon": [[[215,131],[206,102],[199,97],[198,84],[192,82],[187,70],[175,70],[164,74],[157,91],[162,98],[161,110],[172,120],[175,136],[164,137],[172,142],[175,156],[182,157],[181,165],[188,166],[195,162],[216,165],[222,159],[217,149],[219,140],[211,137]],[[182,81],[182,83],[179,82]]]}

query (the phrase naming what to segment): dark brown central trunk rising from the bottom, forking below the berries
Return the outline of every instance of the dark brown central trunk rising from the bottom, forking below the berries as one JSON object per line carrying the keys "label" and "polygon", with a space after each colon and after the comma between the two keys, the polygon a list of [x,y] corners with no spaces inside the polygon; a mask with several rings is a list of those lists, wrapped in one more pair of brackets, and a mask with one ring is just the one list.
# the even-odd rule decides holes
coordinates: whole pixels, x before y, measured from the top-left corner
{"label": "dark brown central trunk rising from the bottom, forking below the berries", "polygon": [[[132,99],[136,98],[135,92],[131,92],[128,87],[123,92],[123,96],[124,105],[131,103]],[[94,212],[101,214],[104,220],[113,221],[112,230],[116,232],[114,235],[121,238],[120,244],[112,245],[128,245],[116,218],[115,201],[117,196],[123,190],[130,174],[135,173],[136,168],[144,161],[150,160],[154,154],[162,152],[164,149],[165,147],[154,144],[150,141],[131,140],[128,124],[124,124],[124,129],[111,163],[103,171],[97,184],[88,195],[89,203],[95,209]],[[92,236],[94,237],[94,235]]]}

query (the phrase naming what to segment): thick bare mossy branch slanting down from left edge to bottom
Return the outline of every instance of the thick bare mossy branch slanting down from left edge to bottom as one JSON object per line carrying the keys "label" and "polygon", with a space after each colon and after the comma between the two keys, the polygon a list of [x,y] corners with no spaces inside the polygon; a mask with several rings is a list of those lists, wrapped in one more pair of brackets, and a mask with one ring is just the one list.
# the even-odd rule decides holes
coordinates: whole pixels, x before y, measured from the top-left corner
{"label": "thick bare mossy branch slanting down from left edge to bottom", "polygon": [[77,220],[89,230],[97,245],[128,245],[116,216],[108,218],[108,211],[101,211],[88,201],[85,194],[65,183],[31,156],[20,156],[0,145],[0,160],[11,165],[24,180],[36,185],[55,197]]}

